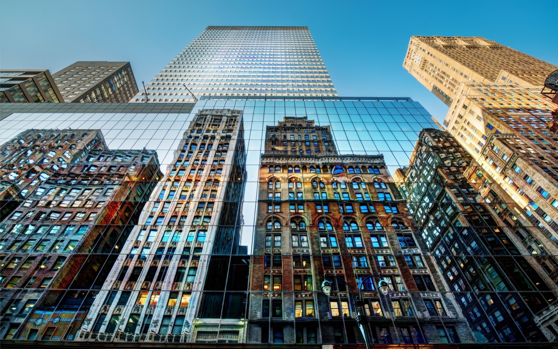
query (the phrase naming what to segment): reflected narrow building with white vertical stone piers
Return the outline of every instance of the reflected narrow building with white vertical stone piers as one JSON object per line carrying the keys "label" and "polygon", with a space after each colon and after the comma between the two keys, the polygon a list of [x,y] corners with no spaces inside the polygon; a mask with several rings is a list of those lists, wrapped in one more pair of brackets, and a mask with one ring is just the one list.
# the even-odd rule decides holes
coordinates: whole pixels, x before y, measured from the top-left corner
{"label": "reflected narrow building with white vertical stone piers", "polygon": [[242,112],[196,113],[76,340],[242,341],[245,166]]}

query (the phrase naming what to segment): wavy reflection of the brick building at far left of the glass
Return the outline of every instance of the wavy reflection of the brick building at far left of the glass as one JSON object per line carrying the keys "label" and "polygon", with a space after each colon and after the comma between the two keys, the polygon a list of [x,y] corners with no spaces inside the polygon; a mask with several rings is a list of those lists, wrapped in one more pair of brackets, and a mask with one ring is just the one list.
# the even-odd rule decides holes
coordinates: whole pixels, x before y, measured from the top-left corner
{"label": "wavy reflection of the brick building at far left of the glass", "polygon": [[0,223],[2,338],[71,340],[161,177],[157,154],[108,150],[99,130],[27,130],[0,171],[23,199]]}

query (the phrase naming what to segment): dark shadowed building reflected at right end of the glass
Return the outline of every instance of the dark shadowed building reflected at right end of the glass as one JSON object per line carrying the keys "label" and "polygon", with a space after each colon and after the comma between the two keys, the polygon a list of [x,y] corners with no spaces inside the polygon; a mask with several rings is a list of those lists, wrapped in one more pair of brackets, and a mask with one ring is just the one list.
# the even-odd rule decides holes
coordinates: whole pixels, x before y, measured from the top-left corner
{"label": "dark shadowed building reflected at right end of the glass", "polygon": [[469,182],[479,167],[448,132],[427,128],[395,178],[476,340],[554,340],[536,314],[556,312],[556,251],[505,192],[487,198]]}

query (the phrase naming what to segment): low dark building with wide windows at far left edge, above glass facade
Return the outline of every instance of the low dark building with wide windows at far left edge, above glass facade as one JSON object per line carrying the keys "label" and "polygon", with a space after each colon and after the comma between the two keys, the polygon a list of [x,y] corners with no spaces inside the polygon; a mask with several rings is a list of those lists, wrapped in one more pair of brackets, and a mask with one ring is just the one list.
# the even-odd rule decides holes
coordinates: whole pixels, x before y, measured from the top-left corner
{"label": "low dark building with wide windows at far left edge, above glass facade", "polygon": [[49,70],[0,70],[0,103],[64,102]]}

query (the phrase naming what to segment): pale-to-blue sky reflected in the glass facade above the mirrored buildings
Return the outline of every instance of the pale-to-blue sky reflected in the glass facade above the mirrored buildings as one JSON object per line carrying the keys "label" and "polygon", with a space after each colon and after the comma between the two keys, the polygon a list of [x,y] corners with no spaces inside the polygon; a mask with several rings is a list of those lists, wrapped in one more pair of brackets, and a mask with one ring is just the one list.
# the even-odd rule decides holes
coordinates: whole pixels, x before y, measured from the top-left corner
{"label": "pale-to-blue sky reflected in the glass facade above the mirrored buildings", "polygon": [[110,149],[156,150],[163,173],[189,122],[200,109],[243,111],[247,150],[242,245],[252,246],[259,158],[266,126],[284,117],[308,117],[330,125],[339,154],[383,154],[390,173],[407,166],[422,128],[437,128],[418,102],[202,100],[192,113],[13,113],[3,119],[0,143],[30,128],[99,129]]}

